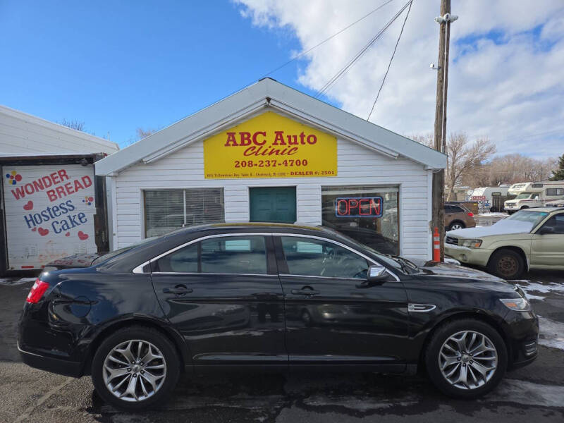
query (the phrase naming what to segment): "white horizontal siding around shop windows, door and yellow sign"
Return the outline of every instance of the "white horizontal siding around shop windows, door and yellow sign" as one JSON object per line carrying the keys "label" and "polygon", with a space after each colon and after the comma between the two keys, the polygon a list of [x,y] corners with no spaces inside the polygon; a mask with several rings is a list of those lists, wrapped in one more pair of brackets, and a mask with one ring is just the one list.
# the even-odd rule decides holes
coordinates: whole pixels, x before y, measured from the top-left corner
{"label": "white horizontal siding around shop windows, door and yellow sign", "polygon": [[338,176],[331,178],[204,179],[197,142],[152,164],[136,164],[116,179],[116,247],[143,237],[142,192],[156,188],[223,187],[225,220],[249,221],[249,187],[297,187],[298,221],[321,223],[322,185],[400,185],[400,254],[430,257],[431,171],[409,159],[390,159],[338,139]]}

